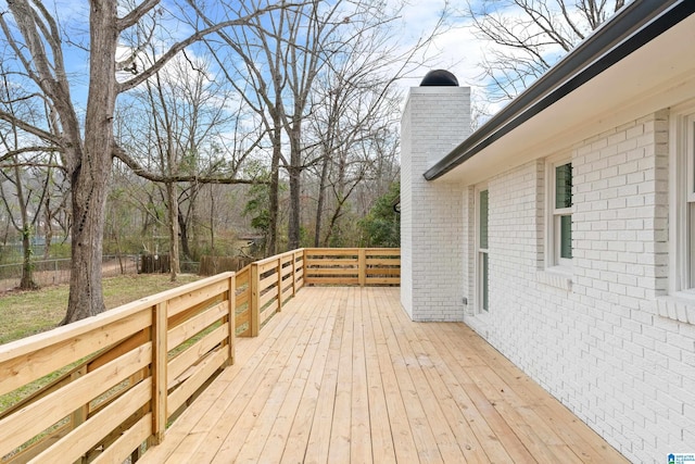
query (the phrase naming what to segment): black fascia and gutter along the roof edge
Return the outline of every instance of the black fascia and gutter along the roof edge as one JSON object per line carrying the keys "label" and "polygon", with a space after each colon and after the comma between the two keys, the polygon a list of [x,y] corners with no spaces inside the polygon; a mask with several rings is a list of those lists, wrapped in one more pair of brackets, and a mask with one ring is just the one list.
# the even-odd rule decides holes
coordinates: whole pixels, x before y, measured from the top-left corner
{"label": "black fascia and gutter along the roof edge", "polygon": [[695,13],[694,0],[635,0],[424,174],[434,180]]}

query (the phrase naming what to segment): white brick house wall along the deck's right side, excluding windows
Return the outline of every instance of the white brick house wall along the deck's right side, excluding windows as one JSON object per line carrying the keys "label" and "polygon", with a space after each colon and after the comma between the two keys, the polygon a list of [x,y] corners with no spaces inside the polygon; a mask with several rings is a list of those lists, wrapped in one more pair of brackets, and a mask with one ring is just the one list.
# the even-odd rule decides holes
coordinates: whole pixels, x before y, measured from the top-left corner
{"label": "white brick house wall along the deck's right side, excluding windows", "polygon": [[[668,288],[668,128],[662,111],[568,147],[571,286],[543,269],[544,161],[489,179],[490,313],[465,317],[633,462],[695,452],[695,325],[657,309]],[[472,188],[462,198],[466,244],[451,253],[472,300]]]}

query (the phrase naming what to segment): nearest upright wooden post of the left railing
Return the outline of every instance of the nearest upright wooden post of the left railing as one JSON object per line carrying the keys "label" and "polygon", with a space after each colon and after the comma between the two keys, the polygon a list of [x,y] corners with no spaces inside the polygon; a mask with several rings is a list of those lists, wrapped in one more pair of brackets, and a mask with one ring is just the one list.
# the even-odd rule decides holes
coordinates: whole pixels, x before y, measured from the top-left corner
{"label": "nearest upright wooden post of the left railing", "polygon": [[167,311],[168,301],[156,304],[152,314],[152,439],[159,444],[166,430],[166,363],[167,363]]}

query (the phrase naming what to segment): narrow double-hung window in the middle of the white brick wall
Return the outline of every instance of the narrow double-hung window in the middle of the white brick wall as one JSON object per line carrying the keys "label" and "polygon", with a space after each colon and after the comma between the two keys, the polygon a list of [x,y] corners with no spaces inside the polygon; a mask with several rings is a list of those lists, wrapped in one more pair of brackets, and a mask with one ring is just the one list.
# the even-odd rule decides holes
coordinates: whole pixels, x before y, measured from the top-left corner
{"label": "narrow double-hung window in the middle of the white brick wall", "polygon": [[572,265],[572,163],[549,162],[547,168],[546,267],[570,271]]}

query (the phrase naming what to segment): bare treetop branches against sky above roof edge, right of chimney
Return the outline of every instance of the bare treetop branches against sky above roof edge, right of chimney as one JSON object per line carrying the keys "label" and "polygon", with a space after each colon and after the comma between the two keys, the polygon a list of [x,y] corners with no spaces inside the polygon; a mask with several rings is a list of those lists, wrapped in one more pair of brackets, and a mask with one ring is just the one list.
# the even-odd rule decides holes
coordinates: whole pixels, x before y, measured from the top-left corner
{"label": "bare treetop branches against sky above roof edge, right of chimney", "polygon": [[509,100],[624,5],[624,0],[466,0],[464,15],[494,46],[480,63],[492,101]]}

